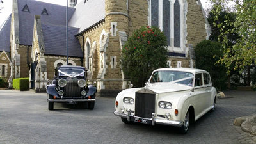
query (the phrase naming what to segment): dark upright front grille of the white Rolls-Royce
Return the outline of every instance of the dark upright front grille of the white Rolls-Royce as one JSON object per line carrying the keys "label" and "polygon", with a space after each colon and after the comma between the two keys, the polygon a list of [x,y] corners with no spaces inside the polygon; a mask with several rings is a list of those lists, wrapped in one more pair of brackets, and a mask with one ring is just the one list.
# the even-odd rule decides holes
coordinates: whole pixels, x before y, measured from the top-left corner
{"label": "dark upright front grille of the white Rolls-Royce", "polygon": [[156,94],[136,92],[135,116],[152,118],[152,113],[155,113],[155,102]]}

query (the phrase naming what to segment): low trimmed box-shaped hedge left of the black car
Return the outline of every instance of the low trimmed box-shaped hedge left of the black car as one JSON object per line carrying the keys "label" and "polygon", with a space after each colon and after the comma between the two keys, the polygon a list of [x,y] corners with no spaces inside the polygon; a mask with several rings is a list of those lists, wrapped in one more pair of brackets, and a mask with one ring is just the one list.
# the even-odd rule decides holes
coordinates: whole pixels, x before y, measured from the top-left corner
{"label": "low trimmed box-shaped hedge left of the black car", "polygon": [[28,90],[29,89],[29,78],[13,79],[12,86],[15,90]]}

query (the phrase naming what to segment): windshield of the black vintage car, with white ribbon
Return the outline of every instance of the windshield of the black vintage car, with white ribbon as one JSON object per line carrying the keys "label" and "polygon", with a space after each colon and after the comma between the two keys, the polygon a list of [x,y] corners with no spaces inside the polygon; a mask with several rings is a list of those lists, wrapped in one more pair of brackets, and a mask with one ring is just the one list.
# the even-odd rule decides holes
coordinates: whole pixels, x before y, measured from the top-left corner
{"label": "windshield of the black vintage car, with white ribbon", "polygon": [[58,72],[59,76],[84,76],[84,70],[78,68],[60,68]]}

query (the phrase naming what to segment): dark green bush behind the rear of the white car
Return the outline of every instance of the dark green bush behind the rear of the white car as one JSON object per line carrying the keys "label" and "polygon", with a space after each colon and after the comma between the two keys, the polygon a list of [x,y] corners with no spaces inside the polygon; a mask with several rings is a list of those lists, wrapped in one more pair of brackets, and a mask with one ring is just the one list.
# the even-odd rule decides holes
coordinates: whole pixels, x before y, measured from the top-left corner
{"label": "dark green bush behind the rear of the white car", "polygon": [[219,42],[212,42],[211,40],[203,40],[197,44],[195,47],[196,68],[209,72],[212,85],[218,90],[225,90],[227,88],[226,68],[225,65],[216,63],[219,57],[223,55],[220,48]]}

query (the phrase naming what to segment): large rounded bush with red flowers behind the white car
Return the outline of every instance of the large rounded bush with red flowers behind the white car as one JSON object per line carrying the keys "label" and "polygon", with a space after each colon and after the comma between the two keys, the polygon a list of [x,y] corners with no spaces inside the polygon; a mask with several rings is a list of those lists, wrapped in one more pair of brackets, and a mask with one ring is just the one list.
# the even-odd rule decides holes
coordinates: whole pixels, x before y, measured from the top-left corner
{"label": "large rounded bush with red flowers behind the white car", "polygon": [[166,36],[155,27],[142,26],[122,48],[122,70],[135,87],[144,86],[152,71],[168,67]]}

